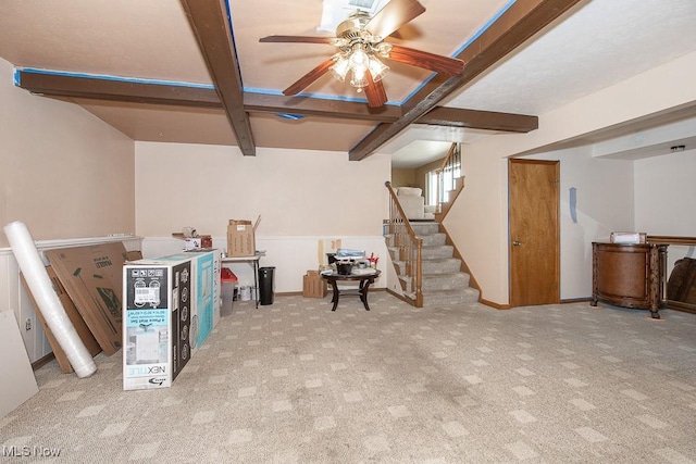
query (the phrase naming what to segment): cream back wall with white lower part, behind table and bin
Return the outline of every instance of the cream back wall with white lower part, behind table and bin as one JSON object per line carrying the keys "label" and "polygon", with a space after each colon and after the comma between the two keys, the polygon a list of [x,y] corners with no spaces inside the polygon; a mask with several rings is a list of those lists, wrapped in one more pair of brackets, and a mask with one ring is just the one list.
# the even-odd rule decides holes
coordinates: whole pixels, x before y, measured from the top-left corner
{"label": "cream back wall with white lower part, behind table and bin", "polygon": [[[385,256],[384,268],[390,170],[384,154],[351,162],[345,152],[259,148],[243,156],[236,147],[137,142],[136,231],[146,237],[146,256],[177,251],[171,234],[184,226],[226,249],[228,220],[261,216],[260,265],[275,267],[276,291],[301,291],[302,276],[319,265],[320,243],[328,252],[324,243],[335,239]],[[248,265],[231,267],[240,284],[251,284]]]}

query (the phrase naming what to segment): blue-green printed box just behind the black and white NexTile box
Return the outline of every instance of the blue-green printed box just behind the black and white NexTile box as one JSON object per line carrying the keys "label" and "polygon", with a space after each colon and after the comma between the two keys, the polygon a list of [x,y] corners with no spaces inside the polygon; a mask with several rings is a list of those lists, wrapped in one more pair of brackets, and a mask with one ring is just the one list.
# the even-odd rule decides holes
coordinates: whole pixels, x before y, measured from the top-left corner
{"label": "blue-green printed box just behind the black and white NexTile box", "polygon": [[191,261],[191,356],[220,322],[220,250],[190,250],[160,260]]}

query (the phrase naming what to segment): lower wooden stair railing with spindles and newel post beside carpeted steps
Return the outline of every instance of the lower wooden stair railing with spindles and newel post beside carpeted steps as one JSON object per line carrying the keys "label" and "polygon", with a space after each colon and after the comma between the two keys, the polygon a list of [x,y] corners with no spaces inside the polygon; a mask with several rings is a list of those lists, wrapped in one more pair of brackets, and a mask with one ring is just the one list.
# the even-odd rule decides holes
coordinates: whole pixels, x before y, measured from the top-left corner
{"label": "lower wooden stair railing with spindles and newel post beside carpeted steps", "polygon": [[413,305],[423,308],[423,239],[413,231],[391,183],[387,180],[384,185],[389,191],[388,234],[393,236],[393,246],[397,249],[391,259],[403,262],[403,269],[400,269],[400,274],[411,280],[411,288],[415,290]]}

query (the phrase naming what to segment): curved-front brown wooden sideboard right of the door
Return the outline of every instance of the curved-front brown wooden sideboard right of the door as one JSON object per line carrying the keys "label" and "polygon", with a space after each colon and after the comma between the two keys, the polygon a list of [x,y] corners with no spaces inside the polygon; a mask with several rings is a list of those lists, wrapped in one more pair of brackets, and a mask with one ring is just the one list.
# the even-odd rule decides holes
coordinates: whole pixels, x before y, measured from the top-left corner
{"label": "curved-front brown wooden sideboard right of the door", "polygon": [[664,294],[667,247],[663,243],[593,242],[592,305],[598,301],[623,308],[658,310],[667,305]]}

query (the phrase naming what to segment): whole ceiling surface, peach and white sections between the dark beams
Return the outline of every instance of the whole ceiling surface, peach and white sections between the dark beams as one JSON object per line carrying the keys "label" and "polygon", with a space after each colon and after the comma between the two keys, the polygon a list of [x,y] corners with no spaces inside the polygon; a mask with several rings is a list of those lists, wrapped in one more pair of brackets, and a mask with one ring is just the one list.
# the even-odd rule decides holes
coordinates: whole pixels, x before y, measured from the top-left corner
{"label": "whole ceiling surface, peach and white sections between the dark beams", "polygon": [[[245,91],[277,95],[331,54],[325,45],[259,43],[258,39],[272,34],[331,35],[316,27],[322,7],[334,1],[228,0]],[[402,27],[394,41],[453,55],[511,1],[421,3],[425,13]],[[584,0],[440,105],[544,114],[695,51],[694,24],[694,0]],[[173,0],[2,0],[0,58],[20,67],[69,74],[212,83],[183,8]],[[385,89],[391,104],[403,102],[431,77],[413,66],[389,64]],[[360,97],[327,76],[306,93],[344,100]],[[222,111],[94,100],[78,103],[136,140],[236,143]],[[375,125],[326,117],[288,122],[271,114],[252,114],[250,122],[259,147],[341,151],[348,151]],[[380,151],[393,153],[395,166],[408,167],[439,156],[447,142],[467,143],[493,134],[411,125]]]}

